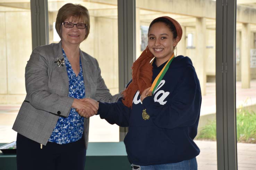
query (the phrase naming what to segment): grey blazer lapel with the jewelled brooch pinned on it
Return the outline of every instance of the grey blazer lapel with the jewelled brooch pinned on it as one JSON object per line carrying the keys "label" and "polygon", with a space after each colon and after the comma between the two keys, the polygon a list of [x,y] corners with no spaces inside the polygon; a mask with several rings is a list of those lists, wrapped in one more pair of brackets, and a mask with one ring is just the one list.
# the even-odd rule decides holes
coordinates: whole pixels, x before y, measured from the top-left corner
{"label": "grey blazer lapel with the jewelled brooch pinned on it", "polygon": [[[57,58],[62,59],[63,53],[61,49],[61,41],[58,44],[55,44],[53,46],[53,53],[54,53],[54,62],[57,61]],[[54,67],[58,70],[59,74],[64,80],[64,89],[69,89],[69,79],[68,79],[68,73],[67,73],[67,68],[66,64],[64,66],[58,66],[56,63],[54,63]]]}

